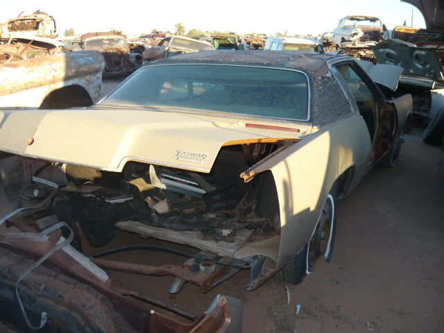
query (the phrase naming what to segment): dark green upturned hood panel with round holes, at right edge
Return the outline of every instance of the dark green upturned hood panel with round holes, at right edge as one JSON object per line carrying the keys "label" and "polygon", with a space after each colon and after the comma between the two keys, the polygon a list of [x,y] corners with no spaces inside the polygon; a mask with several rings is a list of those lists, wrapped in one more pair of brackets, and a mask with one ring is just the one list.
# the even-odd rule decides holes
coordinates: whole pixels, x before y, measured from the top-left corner
{"label": "dark green upturned hood panel with round holes, at right edge", "polygon": [[379,64],[404,68],[403,76],[418,76],[444,82],[443,67],[435,49],[402,40],[386,40],[373,46],[373,53]]}

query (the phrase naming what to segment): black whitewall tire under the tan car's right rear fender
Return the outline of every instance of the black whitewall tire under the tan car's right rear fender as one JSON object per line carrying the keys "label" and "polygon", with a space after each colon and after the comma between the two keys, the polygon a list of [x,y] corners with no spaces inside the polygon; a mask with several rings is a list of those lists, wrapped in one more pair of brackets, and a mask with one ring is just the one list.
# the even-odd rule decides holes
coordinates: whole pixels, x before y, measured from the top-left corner
{"label": "black whitewall tire under the tan car's right rear fender", "polygon": [[314,265],[322,256],[330,261],[333,253],[334,233],[336,232],[336,201],[332,194],[327,196],[323,210],[319,216],[316,228],[309,242],[293,257],[281,271],[280,280],[300,284],[305,276],[311,273]]}

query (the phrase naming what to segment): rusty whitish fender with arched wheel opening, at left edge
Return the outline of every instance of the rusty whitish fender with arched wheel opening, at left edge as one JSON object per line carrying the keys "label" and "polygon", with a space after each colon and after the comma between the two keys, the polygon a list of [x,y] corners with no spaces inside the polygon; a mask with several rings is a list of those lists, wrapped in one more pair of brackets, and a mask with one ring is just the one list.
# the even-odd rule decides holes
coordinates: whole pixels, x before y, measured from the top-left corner
{"label": "rusty whitish fender with arched wheel opening, at left edge", "polygon": [[1,65],[0,107],[39,108],[50,92],[72,85],[83,87],[92,101],[98,101],[104,66],[98,51],[62,53]]}

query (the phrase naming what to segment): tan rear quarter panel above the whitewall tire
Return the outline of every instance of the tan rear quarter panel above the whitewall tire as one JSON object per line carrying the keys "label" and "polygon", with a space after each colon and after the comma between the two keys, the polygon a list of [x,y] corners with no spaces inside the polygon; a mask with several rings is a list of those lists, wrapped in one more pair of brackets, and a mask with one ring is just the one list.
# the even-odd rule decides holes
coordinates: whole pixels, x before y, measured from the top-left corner
{"label": "tan rear quarter panel above the whitewall tire", "polygon": [[278,268],[309,241],[334,181],[350,167],[357,168],[359,180],[364,177],[370,152],[366,124],[352,116],[311,133],[253,170],[271,170],[275,178],[281,221]]}

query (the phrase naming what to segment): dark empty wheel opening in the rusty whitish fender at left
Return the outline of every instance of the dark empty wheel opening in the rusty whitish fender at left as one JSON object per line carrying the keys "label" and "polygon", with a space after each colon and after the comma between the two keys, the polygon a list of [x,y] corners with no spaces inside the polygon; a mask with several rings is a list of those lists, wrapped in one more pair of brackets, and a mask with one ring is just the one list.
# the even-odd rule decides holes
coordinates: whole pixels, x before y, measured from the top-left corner
{"label": "dark empty wheel opening in the rusty whitish fender at left", "polygon": [[50,92],[40,105],[41,110],[67,109],[73,106],[91,106],[92,99],[80,85],[69,85]]}

